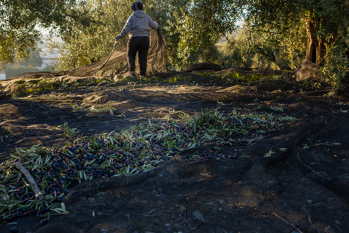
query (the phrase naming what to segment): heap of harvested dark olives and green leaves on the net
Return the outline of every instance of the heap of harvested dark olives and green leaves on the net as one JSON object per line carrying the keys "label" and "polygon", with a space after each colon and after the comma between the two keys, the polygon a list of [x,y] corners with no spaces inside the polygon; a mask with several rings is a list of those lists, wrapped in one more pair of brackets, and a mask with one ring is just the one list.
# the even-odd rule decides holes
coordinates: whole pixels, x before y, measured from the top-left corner
{"label": "heap of harvested dark olives and green leaves on the net", "polygon": [[[88,179],[137,174],[169,160],[181,150],[210,144],[214,147],[246,144],[262,139],[262,134],[282,130],[295,118],[286,114],[221,114],[205,111],[183,121],[140,123],[121,132],[96,133],[80,137],[59,148],[16,148],[10,159],[0,166],[1,220],[36,214],[42,223],[50,210],[65,212],[60,204],[72,188]],[[74,132],[74,129],[65,131]],[[67,133],[67,132],[66,132]],[[219,154],[192,155],[195,160],[234,158]],[[27,169],[43,200],[36,200],[26,177],[14,165]]]}

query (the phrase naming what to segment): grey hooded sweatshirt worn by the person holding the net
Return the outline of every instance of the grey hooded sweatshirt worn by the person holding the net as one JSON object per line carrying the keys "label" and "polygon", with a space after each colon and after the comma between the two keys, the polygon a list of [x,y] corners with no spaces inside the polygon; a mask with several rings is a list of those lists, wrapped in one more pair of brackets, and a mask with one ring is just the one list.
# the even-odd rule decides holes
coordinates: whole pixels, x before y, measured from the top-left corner
{"label": "grey hooded sweatshirt worn by the person holding the net", "polygon": [[133,36],[150,36],[150,29],[157,29],[157,22],[154,22],[149,15],[143,10],[135,10],[126,21],[121,33],[116,36],[119,40],[129,33],[129,37]]}

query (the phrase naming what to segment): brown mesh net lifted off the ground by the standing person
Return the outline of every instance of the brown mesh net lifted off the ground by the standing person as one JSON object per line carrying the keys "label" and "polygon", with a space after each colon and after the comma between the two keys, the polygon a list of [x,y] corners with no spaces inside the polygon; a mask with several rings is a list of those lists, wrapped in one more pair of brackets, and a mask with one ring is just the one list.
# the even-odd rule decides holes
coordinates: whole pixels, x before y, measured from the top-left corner
{"label": "brown mesh net lifted off the ground by the standing person", "polygon": [[[116,47],[112,52],[109,60],[108,58],[104,58],[97,62],[94,62],[89,65],[85,65],[82,67],[73,68],[67,71],[64,71],[67,75],[73,76],[91,76],[99,71],[103,64],[104,68],[108,66],[116,67],[116,66],[127,66],[127,48],[125,47]],[[136,61],[138,58],[136,57]],[[150,48],[148,52],[148,67],[147,73],[149,75],[161,75],[167,70],[167,51],[166,51],[166,42],[165,38],[161,33],[161,30],[158,28],[156,30],[150,30]],[[136,72],[139,71],[139,64],[136,62]]]}

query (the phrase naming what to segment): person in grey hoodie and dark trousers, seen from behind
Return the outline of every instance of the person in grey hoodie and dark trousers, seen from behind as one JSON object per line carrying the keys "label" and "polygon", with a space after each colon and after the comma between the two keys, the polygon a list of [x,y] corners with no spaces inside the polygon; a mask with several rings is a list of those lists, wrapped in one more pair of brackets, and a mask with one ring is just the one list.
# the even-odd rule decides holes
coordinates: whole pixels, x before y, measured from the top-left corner
{"label": "person in grey hoodie and dark trousers, seen from behind", "polygon": [[136,53],[138,52],[139,74],[145,76],[147,72],[147,56],[150,45],[150,29],[157,29],[157,20],[154,21],[143,11],[143,3],[135,1],[132,6],[132,14],[126,21],[121,33],[115,37],[120,40],[129,33],[127,42],[127,61],[129,74],[135,76],[136,73]]}

